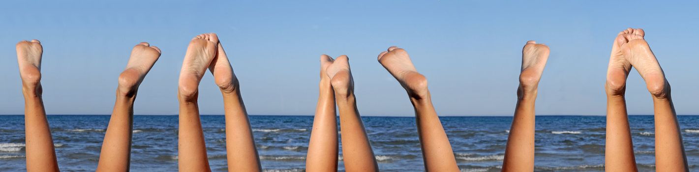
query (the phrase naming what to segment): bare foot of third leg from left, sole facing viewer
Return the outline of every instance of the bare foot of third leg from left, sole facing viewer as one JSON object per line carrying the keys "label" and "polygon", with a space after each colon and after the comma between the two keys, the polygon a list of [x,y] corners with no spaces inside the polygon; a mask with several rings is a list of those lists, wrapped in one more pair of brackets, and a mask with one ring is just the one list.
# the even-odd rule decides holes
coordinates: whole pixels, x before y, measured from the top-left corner
{"label": "bare foot of third leg from left, sole facing viewer", "polygon": [[196,99],[199,82],[216,55],[218,43],[216,34],[201,34],[189,42],[180,71],[179,94],[184,101]]}

